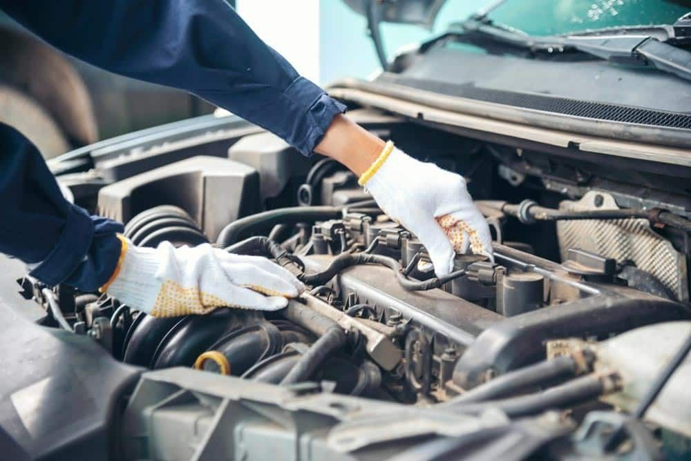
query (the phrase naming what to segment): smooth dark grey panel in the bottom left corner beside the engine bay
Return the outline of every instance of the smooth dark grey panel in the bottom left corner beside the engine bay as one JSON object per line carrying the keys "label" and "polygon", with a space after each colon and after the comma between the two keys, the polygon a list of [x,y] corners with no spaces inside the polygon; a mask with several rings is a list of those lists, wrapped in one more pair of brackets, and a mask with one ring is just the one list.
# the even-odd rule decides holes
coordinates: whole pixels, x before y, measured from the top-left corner
{"label": "smooth dark grey panel in the bottom left corner beside the engine bay", "polygon": [[0,298],[0,458],[111,458],[115,422],[140,369],[86,336],[46,328]]}

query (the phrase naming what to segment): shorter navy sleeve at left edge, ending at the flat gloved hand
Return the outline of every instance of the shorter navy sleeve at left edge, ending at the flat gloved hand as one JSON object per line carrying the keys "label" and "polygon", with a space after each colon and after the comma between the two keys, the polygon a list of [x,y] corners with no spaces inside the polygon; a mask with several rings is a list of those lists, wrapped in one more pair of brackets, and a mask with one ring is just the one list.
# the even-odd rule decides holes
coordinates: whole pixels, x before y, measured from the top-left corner
{"label": "shorter navy sleeve at left edge, ending at the flat gloved hand", "polygon": [[[122,224],[70,204],[36,146],[0,124],[0,252],[35,266],[30,275],[50,286],[95,291],[120,255]],[[37,265],[36,265],[37,264]]]}

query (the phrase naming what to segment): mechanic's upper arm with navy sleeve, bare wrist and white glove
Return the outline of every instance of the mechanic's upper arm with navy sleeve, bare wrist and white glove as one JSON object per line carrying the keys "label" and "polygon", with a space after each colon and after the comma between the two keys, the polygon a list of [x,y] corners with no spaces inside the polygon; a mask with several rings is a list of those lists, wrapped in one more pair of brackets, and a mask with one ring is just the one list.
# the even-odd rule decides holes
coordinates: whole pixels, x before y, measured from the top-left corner
{"label": "mechanic's upper arm with navy sleeve, bare wrist and white glove", "polygon": [[[362,175],[361,184],[384,210],[422,239],[438,274],[448,273],[453,261],[454,247],[446,235],[457,236],[457,249],[467,248],[470,241],[479,242],[473,244],[477,251],[489,251],[489,230],[460,176],[431,165],[422,169],[425,177],[410,170],[423,164],[383,146],[342,117],[343,105],[300,77],[225,1],[0,4],[17,21],[75,57],[129,77],[184,88],[267,128],[305,155],[316,148],[341,161]],[[401,180],[415,187],[404,193]],[[437,224],[435,218],[442,216],[446,221]],[[122,254],[135,257],[135,251]],[[133,266],[124,263],[117,267]],[[119,274],[111,286],[128,278]]]}

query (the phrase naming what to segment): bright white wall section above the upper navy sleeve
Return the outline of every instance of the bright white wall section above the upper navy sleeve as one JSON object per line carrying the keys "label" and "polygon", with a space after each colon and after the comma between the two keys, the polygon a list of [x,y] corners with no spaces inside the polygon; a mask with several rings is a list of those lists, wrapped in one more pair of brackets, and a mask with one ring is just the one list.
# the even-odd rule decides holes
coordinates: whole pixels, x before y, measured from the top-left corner
{"label": "bright white wall section above the upper navy sleeve", "polygon": [[236,0],[256,34],[301,75],[319,82],[319,0]]}

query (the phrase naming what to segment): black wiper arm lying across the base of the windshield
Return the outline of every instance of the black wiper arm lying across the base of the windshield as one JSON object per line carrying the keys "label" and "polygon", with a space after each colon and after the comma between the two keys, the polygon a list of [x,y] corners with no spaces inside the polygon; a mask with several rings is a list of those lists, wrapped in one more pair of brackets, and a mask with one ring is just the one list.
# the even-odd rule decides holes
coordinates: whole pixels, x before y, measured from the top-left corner
{"label": "black wiper arm lying across the base of the windshield", "polygon": [[650,35],[533,37],[516,30],[500,28],[482,19],[469,19],[460,23],[460,26],[464,32],[478,33],[533,52],[576,50],[612,63],[652,67],[691,80],[691,52]]}

